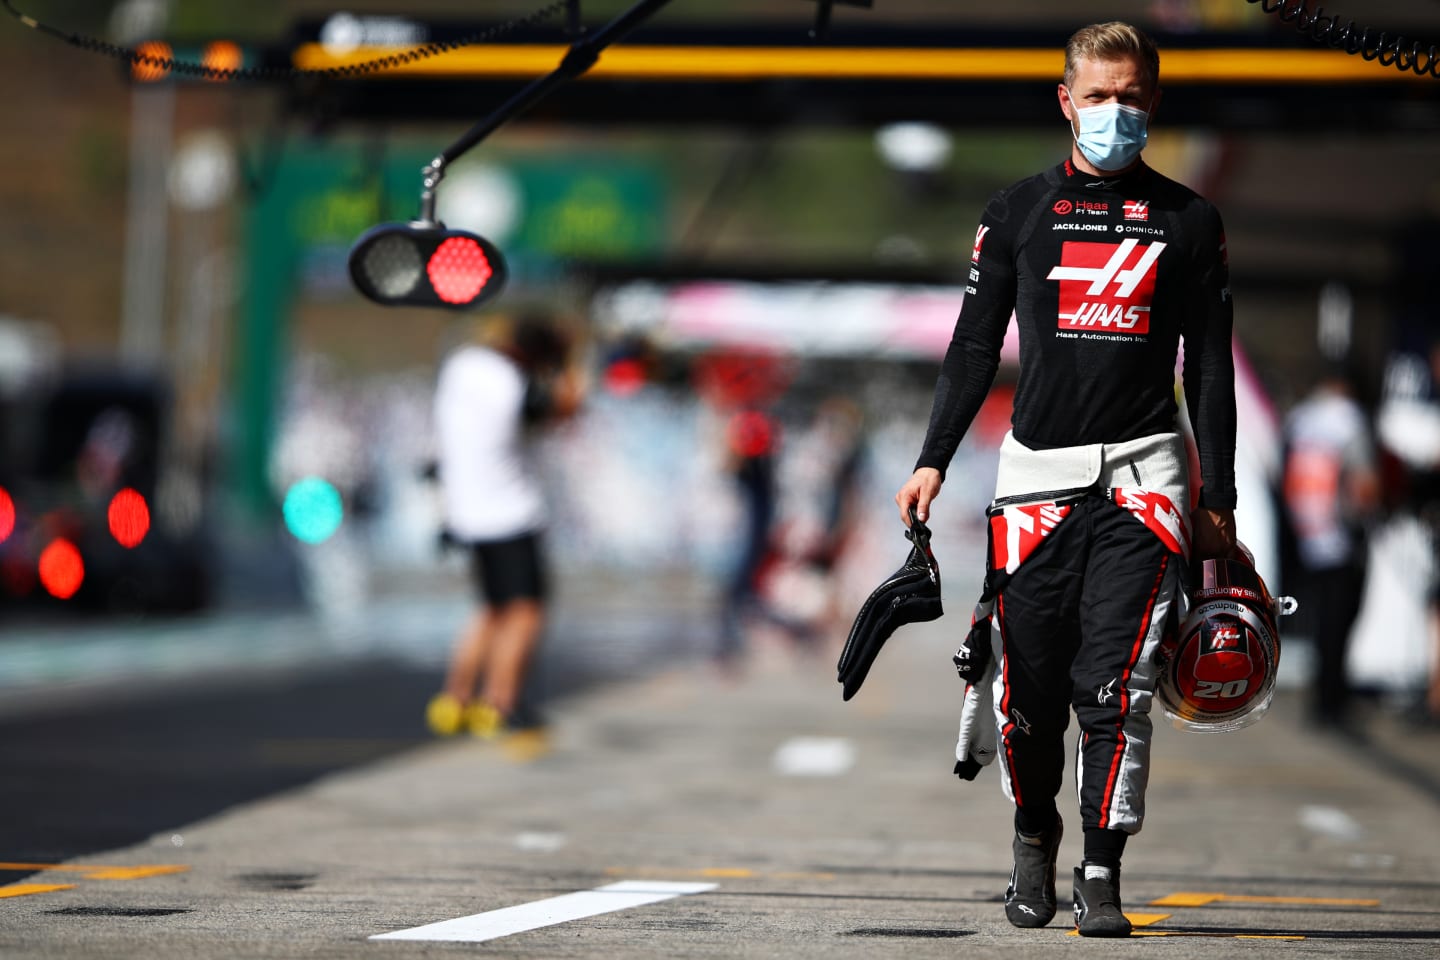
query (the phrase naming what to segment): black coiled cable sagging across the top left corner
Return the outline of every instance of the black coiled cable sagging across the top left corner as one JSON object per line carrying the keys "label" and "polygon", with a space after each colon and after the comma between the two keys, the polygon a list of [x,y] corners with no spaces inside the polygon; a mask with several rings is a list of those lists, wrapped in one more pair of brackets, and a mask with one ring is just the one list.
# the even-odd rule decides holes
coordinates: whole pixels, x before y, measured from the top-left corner
{"label": "black coiled cable sagging across the top left corner", "polygon": [[168,56],[156,56],[153,53],[145,53],[137,50],[135,47],[120,46],[117,43],[109,43],[108,40],[101,40],[99,37],[85,36],[82,33],[66,33],[58,27],[42,23],[35,17],[26,16],[14,9],[10,0],[0,0],[4,9],[16,20],[30,27],[32,30],[39,30],[40,33],[49,33],[50,36],[76,46],[82,50],[89,50],[92,53],[101,53],[104,56],[112,56],[118,60],[125,60],[131,66],[143,66],[157,72],[173,72],[184,76],[196,76],[207,81],[288,81],[302,76],[320,76],[330,79],[354,79],[357,76],[364,76],[367,73],[377,73],[380,71],[395,69],[397,66],[405,66],[406,63],[415,63],[431,56],[438,56],[441,53],[449,53],[462,46],[471,46],[474,43],[484,43],[487,40],[494,40],[498,36],[518,30],[520,27],[527,27],[543,20],[550,19],[560,10],[564,10],[569,0],[552,0],[544,7],[540,7],[534,13],[528,13],[523,17],[516,17],[514,20],[507,20],[504,23],[497,23],[484,30],[477,30],[474,33],[465,35],[456,40],[439,40],[435,43],[426,43],[423,46],[412,47],[400,53],[392,53],[389,56],[376,58],[373,60],[366,60],[364,63],[350,63],[347,66],[327,66],[323,69],[302,69],[298,66],[259,66],[259,68],[216,68],[206,66],[203,63],[192,63],[187,60],[176,60]]}

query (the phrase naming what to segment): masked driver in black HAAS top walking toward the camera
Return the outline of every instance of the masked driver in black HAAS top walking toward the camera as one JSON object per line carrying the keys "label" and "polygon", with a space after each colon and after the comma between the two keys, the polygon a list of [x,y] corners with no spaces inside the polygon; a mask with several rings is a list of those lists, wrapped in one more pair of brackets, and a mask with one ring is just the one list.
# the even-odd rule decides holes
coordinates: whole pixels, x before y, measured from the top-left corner
{"label": "masked driver in black HAAS top walking toward the camera", "polygon": [[[1020,381],[989,508],[982,604],[998,626],[1001,783],[1015,805],[1005,915],[1056,914],[1064,734],[1080,724],[1084,856],[1074,923],[1128,937],[1120,858],[1140,830],[1153,656],[1187,561],[1233,557],[1236,390],[1220,213],[1140,158],[1161,99],[1159,53],[1126,23],[1066,45],[1060,112],[1070,154],[995,194],[940,367],[901,518],[927,521],[995,380],[1014,314]],[[1176,426],[1175,358],[1200,455],[1198,504]]]}

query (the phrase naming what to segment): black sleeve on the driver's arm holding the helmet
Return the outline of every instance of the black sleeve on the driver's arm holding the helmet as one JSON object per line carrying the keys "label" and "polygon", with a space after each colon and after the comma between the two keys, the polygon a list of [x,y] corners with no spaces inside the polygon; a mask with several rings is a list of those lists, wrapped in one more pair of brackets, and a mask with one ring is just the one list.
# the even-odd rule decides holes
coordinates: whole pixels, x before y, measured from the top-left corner
{"label": "black sleeve on the driver's arm holding the helmet", "polygon": [[1200,505],[1236,505],[1236,364],[1231,354],[1234,304],[1220,212],[1205,204],[1194,250],[1197,288],[1187,295],[1185,407],[1195,430],[1202,481]]}

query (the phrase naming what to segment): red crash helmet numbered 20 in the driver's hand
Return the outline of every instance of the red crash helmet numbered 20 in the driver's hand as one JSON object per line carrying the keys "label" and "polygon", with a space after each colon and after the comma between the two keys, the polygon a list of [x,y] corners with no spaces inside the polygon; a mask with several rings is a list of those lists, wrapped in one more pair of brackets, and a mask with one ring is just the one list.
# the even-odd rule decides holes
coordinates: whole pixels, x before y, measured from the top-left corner
{"label": "red crash helmet numbered 20 in the driver's hand", "polygon": [[1295,610],[1295,600],[1270,596],[1243,545],[1231,558],[1202,561],[1197,573],[1185,619],[1161,643],[1156,695],[1176,727],[1240,730],[1270,708],[1279,617]]}

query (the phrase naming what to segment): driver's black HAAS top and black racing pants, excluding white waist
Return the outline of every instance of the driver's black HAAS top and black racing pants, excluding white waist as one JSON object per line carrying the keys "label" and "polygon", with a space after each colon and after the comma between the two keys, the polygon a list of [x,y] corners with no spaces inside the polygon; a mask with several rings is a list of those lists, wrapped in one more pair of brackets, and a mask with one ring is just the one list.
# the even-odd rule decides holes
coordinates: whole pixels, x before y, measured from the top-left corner
{"label": "driver's black HAAS top and black racing pants, excluding white waist", "polygon": [[[1097,177],[1066,161],[995,194],[917,468],[943,475],[995,379],[1012,312],[1017,440],[1056,449],[1176,432],[1184,340],[1200,505],[1234,507],[1231,301],[1214,206],[1143,163]],[[1001,759],[1018,822],[1056,816],[1074,707],[1083,826],[1140,829],[1153,672],[1139,638],[1152,635],[1156,592],[1179,581],[1178,563],[1097,491],[999,589]]]}

